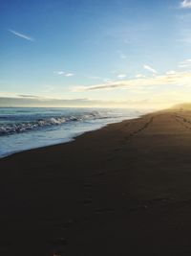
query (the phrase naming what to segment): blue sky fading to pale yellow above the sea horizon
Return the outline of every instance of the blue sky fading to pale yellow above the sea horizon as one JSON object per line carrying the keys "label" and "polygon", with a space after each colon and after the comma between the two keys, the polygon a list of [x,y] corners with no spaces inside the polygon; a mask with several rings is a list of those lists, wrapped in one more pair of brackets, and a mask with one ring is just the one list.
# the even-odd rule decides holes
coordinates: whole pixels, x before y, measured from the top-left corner
{"label": "blue sky fading to pale yellow above the sea horizon", "polygon": [[1,0],[0,106],[190,102],[191,0]]}

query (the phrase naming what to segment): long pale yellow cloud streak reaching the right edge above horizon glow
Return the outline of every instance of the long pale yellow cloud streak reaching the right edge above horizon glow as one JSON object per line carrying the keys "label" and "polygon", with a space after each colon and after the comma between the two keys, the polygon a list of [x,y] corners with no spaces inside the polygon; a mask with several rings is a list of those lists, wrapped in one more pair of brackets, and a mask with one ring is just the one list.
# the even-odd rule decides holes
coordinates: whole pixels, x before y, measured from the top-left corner
{"label": "long pale yellow cloud streak reaching the right edge above horizon glow", "polygon": [[167,85],[167,84],[191,84],[191,72],[177,72],[175,74],[165,74],[163,76],[156,76],[152,78],[140,78],[127,81],[114,81],[110,83],[102,83],[91,86],[76,86],[73,91],[93,91],[103,89],[127,89],[135,88],[137,86],[149,86],[149,85]]}

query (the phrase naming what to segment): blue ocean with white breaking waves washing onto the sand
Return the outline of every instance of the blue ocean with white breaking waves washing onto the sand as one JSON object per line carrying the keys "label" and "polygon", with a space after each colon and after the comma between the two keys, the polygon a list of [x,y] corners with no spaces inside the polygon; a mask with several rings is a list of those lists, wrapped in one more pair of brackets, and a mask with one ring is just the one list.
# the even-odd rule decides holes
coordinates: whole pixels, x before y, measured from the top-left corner
{"label": "blue ocean with white breaking waves washing onto the sand", "polygon": [[144,113],[118,108],[0,107],[0,157],[69,142],[86,131]]}

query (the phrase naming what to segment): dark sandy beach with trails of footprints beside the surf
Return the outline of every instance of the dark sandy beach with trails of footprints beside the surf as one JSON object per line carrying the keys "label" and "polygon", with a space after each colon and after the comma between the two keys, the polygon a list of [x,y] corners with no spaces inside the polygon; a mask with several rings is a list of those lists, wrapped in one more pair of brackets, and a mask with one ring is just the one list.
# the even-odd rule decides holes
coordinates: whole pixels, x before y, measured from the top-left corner
{"label": "dark sandy beach with trails of footprints beside the surf", "polygon": [[191,255],[191,111],[0,160],[0,255]]}

